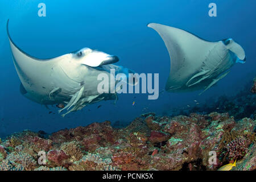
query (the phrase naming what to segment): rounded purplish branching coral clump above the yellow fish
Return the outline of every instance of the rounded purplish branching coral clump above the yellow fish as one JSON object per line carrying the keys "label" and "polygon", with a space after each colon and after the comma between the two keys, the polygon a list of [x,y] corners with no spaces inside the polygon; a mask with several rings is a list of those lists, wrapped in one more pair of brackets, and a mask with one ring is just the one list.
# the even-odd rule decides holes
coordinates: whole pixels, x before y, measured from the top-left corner
{"label": "rounded purplish branching coral clump above the yellow fish", "polygon": [[245,137],[238,137],[228,143],[226,149],[228,150],[229,159],[241,159],[248,151],[249,142]]}

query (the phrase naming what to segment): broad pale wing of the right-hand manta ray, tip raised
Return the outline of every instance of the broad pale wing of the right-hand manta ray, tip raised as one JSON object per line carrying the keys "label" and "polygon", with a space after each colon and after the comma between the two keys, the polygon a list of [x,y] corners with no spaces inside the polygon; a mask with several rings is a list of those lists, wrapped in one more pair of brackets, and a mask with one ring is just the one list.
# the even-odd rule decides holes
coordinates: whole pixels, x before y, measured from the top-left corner
{"label": "broad pale wing of the right-hand manta ray, tip raised", "polygon": [[170,87],[172,90],[182,88],[195,73],[199,73],[207,51],[214,43],[206,42],[179,28],[158,23],[150,23],[148,27],[158,32],[170,55],[171,69],[166,90]]}

